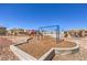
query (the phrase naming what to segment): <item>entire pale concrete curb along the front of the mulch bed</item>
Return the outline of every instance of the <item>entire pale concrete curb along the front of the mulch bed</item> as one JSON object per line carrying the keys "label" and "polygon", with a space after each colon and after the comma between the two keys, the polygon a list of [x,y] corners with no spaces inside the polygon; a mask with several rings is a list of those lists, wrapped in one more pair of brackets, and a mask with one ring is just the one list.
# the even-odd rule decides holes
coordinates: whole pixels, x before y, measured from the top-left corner
{"label": "entire pale concrete curb along the front of the mulch bed", "polygon": [[79,46],[76,46],[73,48],[52,47],[44,55],[42,55],[40,58],[33,57],[32,55],[30,55],[30,54],[23,52],[22,50],[20,50],[19,47],[17,47],[15,45],[10,45],[10,48],[21,61],[51,61],[55,54],[61,54],[62,51],[66,52],[62,55],[76,53],[76,52],[78,52]]}

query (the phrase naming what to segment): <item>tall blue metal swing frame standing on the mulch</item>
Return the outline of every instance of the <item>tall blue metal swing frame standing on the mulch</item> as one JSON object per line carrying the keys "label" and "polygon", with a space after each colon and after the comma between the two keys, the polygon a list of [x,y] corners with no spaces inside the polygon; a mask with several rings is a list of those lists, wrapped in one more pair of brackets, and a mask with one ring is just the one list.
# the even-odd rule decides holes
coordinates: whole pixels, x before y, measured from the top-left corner
{"label": "tall blue metal swing frame standing on the mulch", "polygon": [[40,26],[39,32],[42,33],[37,35],[39,40],[43,39],[43,35],[50,35],[55,37],[56,43],[59,41],[59,25]]}

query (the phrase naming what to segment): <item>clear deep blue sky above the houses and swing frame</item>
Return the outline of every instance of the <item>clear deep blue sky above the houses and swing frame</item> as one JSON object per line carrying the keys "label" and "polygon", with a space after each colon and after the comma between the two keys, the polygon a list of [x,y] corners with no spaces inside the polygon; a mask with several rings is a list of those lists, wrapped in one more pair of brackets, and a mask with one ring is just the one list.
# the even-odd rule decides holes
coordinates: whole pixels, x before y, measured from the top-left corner
{"label": "clear deep blue sky above the houses and swing frame", "polygon": [[61,30],[87,29],[87,4],[0,3],[0,25],[37,29],[59,25]]}

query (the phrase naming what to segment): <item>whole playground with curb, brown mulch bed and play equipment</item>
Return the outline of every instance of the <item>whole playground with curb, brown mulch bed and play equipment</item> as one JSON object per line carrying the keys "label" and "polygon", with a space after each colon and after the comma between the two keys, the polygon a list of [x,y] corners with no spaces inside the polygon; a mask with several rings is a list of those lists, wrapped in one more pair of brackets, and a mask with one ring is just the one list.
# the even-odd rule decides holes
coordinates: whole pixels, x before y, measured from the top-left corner
{"label": "whole playground with curb, brown mulch bed and play equipment", "polygon": [[76,42],[65,41],[59,37],[58,25],[41,26],[36,32],[33,31],[30,34],[26,42],[11,45],[10,48],[20,59],[52,59],[55,54],[68,55],[79,51]]}

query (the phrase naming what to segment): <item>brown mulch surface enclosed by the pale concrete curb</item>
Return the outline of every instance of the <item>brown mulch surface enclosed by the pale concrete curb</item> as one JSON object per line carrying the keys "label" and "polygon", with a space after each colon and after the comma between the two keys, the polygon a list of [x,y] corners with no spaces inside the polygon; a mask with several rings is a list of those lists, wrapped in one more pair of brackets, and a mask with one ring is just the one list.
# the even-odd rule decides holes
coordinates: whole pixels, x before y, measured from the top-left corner
{"label": "brown mulch surface enclosed by the pale concrete curb", "polygon": [[74,47],[75,45],[75,43],[68,41],[59,41],[56,44],[55,39],[51,36],[44,36],[44,39],[40,41],[34,37],[31,42],[18,45],[18,47],[35,58],[40,58],[52,47]]}

